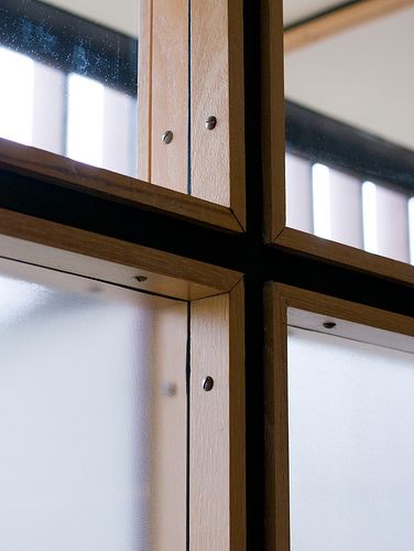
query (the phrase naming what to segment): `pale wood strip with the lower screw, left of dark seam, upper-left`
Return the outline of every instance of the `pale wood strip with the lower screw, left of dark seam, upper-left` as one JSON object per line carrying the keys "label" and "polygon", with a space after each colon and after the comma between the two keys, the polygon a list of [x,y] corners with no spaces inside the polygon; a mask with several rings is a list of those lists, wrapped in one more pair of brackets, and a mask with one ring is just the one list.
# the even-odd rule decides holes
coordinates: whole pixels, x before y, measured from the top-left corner
{"label": "pale wood strip with the lower screw, left of dark seam, upper-left", "polygon": [[140,26],[139,177],[186,193],[188,0],[143,0]]}

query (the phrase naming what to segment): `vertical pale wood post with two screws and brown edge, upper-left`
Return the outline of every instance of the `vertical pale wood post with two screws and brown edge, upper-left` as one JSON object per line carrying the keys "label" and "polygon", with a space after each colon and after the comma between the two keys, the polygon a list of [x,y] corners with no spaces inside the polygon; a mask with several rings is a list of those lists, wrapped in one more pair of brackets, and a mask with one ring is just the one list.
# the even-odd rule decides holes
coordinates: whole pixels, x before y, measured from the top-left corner
{"label": "vertical pale wood post with two screws and brown edge, upper-left", "polygon": [[244,230],[242,1],[195,0],[188,24],[188,0],[142,0],[140,25],[140,179],[227,207]]}

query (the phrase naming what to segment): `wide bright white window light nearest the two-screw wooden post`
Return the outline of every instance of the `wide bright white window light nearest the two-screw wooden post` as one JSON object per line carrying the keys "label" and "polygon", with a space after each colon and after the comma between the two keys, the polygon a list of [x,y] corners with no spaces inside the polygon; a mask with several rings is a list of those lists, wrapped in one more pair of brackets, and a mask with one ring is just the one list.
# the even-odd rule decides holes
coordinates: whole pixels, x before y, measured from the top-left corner
{"label": "wide bright white window light nearest the two-screw wooden post", "polygon": [[102,165],[103,85],[85,76],[69,75],[67,156]]}

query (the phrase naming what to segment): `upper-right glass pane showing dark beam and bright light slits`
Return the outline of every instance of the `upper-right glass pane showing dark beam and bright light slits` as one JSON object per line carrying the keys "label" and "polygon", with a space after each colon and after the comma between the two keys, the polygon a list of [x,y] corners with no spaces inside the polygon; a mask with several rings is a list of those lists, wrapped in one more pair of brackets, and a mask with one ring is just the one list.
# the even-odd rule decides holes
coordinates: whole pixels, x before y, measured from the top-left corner
{"label": "upper-right glass pane showing dark beam and bright light slits", "polygon": [[[283,0],[288,148],[317,164],[314,234],[410,262],[414,8],[395,3],[362,21],[357,3]],[[346,174],[318,168],[330,159]]]}

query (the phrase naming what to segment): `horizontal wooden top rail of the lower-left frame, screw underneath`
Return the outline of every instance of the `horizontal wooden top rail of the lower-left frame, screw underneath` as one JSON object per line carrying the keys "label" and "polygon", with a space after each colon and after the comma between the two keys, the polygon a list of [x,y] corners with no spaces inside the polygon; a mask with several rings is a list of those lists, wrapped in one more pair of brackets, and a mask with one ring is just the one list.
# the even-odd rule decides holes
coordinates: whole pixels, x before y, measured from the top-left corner
{"label": "horizontal wooden top rail of the lower-left frame, screw underneath", "polygon": [[[0,257],[195,300],[231,291],[241,273],[0,208]],[[144,276],[143,282],[133,280]]]}

